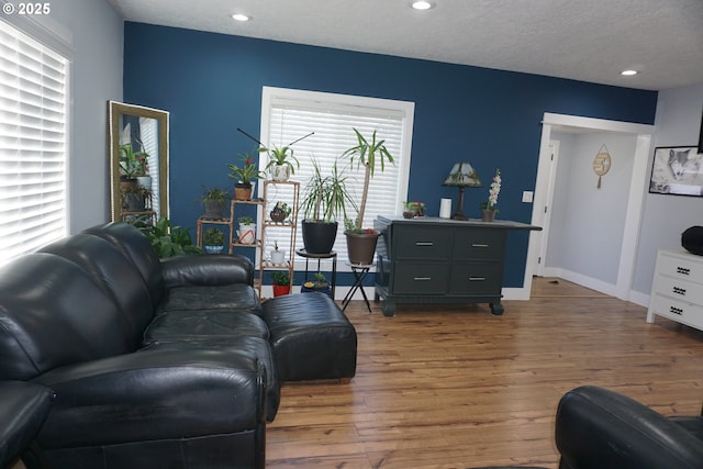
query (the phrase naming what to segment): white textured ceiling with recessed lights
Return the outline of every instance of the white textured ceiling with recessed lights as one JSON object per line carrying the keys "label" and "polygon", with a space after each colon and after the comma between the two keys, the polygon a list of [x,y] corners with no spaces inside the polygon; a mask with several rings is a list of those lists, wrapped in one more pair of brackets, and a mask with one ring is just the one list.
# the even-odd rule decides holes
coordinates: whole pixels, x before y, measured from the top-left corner
{"label": "white textured ceiling with recessed lights", "polygon": [[703,0],[109,1],[142,23],[639,89],[703,83]]}

